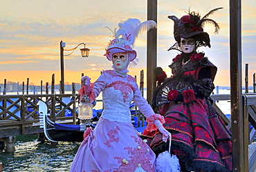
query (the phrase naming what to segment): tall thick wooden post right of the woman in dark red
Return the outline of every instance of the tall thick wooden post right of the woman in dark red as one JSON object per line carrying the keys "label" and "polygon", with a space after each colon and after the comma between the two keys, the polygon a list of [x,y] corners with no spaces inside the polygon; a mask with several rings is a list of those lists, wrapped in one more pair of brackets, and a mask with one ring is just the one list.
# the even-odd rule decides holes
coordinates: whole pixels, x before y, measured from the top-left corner
{"label": "tall thick wooden post right of the woman in dark red", "polygon": [[[248,116],[241,87],[241,0],[230,0],[230,102],[233,171],[248,171]],[[246,120],[247,118],[247,120]]]}

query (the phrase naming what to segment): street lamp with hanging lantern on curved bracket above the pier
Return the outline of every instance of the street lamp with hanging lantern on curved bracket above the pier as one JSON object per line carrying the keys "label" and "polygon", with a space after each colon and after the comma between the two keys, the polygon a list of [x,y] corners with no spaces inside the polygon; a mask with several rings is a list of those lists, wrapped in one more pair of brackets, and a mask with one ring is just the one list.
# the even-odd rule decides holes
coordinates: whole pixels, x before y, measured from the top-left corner
{"label": "street lamp with hanging lantern on curved bracket above the pier", "polygon": [[[75,49],[79,46],[79,45],[84,45],[84,48],[80,49],[81,55],[82,57],[86,58],[89,56],[89,48],[85,47],[85,43],[80,43],[78,44],[76,47],[72,48],[72,49],[64,49],[64,47],[66,47],[66,43],[60,41],[60,75],[61,75],[61,83],[60,83],[60,87],[61,87],[61,94],[64,94],[64,56],[69,56],[71,55]],[[64,55],[64,51],[72,51],[70,54]]]}

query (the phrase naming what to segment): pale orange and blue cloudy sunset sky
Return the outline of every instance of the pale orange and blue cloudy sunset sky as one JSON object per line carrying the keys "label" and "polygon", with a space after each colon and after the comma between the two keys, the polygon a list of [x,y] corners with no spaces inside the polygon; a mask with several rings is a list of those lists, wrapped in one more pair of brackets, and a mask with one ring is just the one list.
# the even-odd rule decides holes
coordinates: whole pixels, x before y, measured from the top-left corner
{"label": "pale orange and blue cloudy sunset sky", "polygon": [[[71,49],[79,43],[86,43],[89,58],[80,56],[80,47],[64,59],[65,81],[80,83],[82,73],[94,81],[102,69],[111,69],[111,62],[103,56],[111,31],[118,23],[128,18],[147,20],[147,0],[0,0],[0,83],[8,81],[39,85],[60,81],[60,41]],[[210,61],[218,67],[214,84],[230,86],[229,50],[229,1],[158,0],[158,58],[157,65],[167,76],[171,75],[168,65],[178,52],[167,52],[175,41],[172,20],[167,16],[180,18],[184,9],[199,11],[201,16],[213,8],[223,7],[210,15],[221,26],[219,34],[213,34],[214,27],[205,25],[204,31],[210,34],[211,48],[201,47]],[[255,0],[242,0],[242,69],[244,81],[245,63],[249,64],[249,85],[253,85],[256,72],[256,3]],[[134,50],[139,63],[130,68],[132,76],[139,76],[140,70],[146,73],[147,34],[140,34]],[[64,52],[68,54],[68,52]],[[146,80],[145,80],[146,81]],[[244,85],[244,84],[243,84]]]}

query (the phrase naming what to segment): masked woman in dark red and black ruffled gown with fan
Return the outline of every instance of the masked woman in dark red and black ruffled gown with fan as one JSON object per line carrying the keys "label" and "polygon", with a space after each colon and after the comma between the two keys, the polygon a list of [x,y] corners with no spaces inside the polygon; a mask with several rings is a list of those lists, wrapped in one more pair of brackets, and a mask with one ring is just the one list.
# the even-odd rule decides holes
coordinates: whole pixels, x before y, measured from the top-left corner
{"label": "masked woman in dark red and black ruffled gown with fan", "polygon": [[[174,21],[177,41],[170,50],[181,54],[172,59],[173,76],[156,89],[152,106],[161,107],[163,126],[172,133],[172,153],[179,158],[182,171],[232,171],[231,134],[210,99],[217,67],[203,52],[196,52],[198,47],[210,47],[202,26],[212,23],[218,32],[219,25],[208,15],[219,9],[202,19],[190,11],[181,19],[168,17]],[[143,136],[156,154],[168,150],[169,142],[163,142],[158,131],[145,130]]]}

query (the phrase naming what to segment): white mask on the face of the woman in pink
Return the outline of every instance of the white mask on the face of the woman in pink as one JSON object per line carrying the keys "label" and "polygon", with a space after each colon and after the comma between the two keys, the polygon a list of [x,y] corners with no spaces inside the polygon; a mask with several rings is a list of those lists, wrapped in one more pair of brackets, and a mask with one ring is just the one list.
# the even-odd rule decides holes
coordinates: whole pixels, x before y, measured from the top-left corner
{"label": "white mask on the face of the woman in pink", "polygon": [[112,55],[113,66],[117,70],[123,70],[127,67],[128,63],[128,54],[125,52],[118,52]]}

